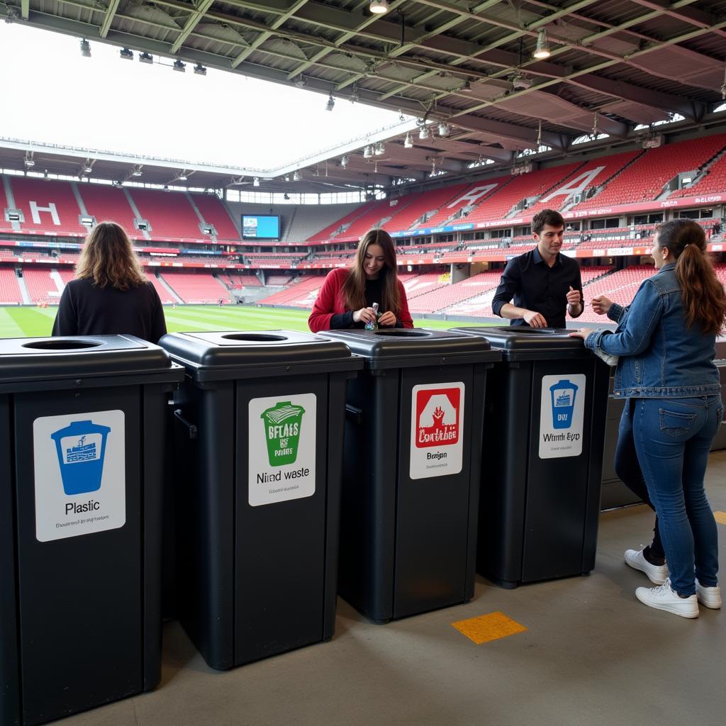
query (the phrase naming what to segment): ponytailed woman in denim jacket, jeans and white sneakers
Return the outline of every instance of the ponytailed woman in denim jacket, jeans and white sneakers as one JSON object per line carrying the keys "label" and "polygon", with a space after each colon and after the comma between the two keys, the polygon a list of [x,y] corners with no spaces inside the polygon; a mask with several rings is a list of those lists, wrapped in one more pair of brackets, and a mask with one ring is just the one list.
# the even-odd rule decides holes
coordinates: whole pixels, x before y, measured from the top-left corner
{"label": "ponytailed woman in denim jacket, jeans and white sneakers", "polygon": [[[628,399],[619,430],[625,437],[618,443],[621,465],[632,436],[658,515],[670,577],[660,587],[637,588],[635,595],[652,608],[695,618],[698,603],[721,606],[717,528],[703,478],[723,412],[713,360],[726,319],[726,293],[696,222],[661,224],[652,254],[658,272],[643,282],[629,306],[607,298],[592,301],[596,312],[618,322],[616,332],[583,328],[572,335],[583,338],[587,348],[619,356],[614,393]],[[657,576],[657,566],[648,565],[658,563],[649,563],[647,555],[628,550],[626,562]],[[665,574],[665,563],[660,564]]]}

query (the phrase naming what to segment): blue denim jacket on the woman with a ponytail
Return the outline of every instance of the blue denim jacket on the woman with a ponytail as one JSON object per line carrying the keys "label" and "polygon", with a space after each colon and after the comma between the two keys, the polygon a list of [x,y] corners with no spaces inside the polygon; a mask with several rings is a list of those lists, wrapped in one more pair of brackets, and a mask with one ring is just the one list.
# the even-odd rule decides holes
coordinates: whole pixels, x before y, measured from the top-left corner
{"label": "blue denim jacket on the woman with a ponytail", "polygon": [[720,393],[714,365],[716,336],[685,322],[675,264],[663,266],[640,285],[629,306],[613,303],[608,317],[615,333],[590,333],[585,346],[620,356],[616,396],[685,398]]}

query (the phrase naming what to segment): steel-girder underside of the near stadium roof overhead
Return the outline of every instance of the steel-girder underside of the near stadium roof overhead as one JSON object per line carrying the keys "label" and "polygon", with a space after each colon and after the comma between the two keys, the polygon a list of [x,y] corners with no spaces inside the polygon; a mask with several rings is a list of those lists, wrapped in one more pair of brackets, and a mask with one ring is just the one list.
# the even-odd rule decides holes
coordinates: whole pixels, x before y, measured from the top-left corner
{"label": "steel-girder underside of the near stadium roof overhead", "polygon": [[[391,0],[386,15],[372,15],[368,0],[8,2],[6,20],[436,122],[428,139],[401,126],[370,158],[362,144],[335,150],[326,185],[423,179],[478,158],[510,164],[540,144],[562,154],[593,129],[609,143],[632,142],[637,124],[674,114],[685,127],[707,126],[726,94],[723,0]],[[543,29],[550,57],[537,60]],[[449,136],[439,136],[442,122]],[[414,147],[404,148],[409,127]],[[295,191],[322,191],[322,161],[295,165],[303,169]],[[208,172],[209,186],[227,174]],[[206,186],[201,170],[195,176]]]}

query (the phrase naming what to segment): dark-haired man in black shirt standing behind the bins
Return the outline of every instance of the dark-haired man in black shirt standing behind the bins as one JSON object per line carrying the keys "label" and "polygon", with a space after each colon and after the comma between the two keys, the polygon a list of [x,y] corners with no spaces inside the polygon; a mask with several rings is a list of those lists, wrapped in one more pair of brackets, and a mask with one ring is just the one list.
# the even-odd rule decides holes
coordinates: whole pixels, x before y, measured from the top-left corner
{"label": "dark-haired man in black shirt standing behind the bins", "polygon": [[557,211],[544,209],[534,215],[537,247],[507,263],[492,299],[495,315],[511,320],[510,325],[537,328],[566,327],[565,311],[573,318],[582,315],[580,266],[560,254],[564,229]]}

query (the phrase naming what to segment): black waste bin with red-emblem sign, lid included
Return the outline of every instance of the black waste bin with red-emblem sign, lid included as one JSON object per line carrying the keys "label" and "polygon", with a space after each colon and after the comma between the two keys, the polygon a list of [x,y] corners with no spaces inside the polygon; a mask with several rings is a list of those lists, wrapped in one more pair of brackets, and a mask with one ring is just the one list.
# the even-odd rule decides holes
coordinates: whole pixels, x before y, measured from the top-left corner
{"label": "black waste bin with red-emblem sign, lid included", "polygon": [[486,340],[444,330],[325,333],[365,357],[348,383],[339,592],[370,619],[474,592]]}

